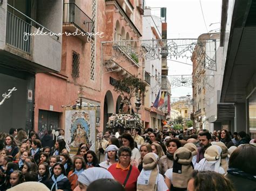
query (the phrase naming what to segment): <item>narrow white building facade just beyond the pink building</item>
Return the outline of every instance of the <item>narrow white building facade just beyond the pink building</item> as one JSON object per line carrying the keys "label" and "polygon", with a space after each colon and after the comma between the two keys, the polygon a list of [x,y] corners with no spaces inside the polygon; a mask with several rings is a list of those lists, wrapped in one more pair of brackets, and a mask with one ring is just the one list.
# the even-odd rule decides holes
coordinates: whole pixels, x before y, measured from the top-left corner
{"label": "narrow white building facade just beyond the pink building", "polygon": [[[150,45],[158,44],[158,40],[162,39],[161,19],[158,16],[152,15],[151,8],[144,9],[143,16],[143,40],[150,40]],[[156,41],[154,41],[156,40]],[[145,41],[146,43],[146,41]],[[163,90],[161,86],[161,71],[162,71],[162,56],[157,59],[145,58],[143,63],[143,73],[147,82],[145,110],[149,117],[149,124],[146,127],[153,129],[161,128],[161,121],[165,119],[164,113],[159,109],[152,108],[154,101],[157,98],[159,90]],[[160,94],[161,94],[160,90]]]}

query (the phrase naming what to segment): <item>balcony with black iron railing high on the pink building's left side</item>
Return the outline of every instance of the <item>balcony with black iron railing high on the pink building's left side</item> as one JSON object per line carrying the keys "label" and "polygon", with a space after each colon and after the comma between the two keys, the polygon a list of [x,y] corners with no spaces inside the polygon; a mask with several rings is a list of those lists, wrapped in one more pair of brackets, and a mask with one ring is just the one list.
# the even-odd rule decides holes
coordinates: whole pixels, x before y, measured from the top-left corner
{"label": "balcony with black iron railing high on the pink building's left side", "polygon": [[63,29],[71,33],[82,33],[77,37],[85,43],[90,43],[90,40],[93,40],[93,37],[89,38],[89,33],[94,33],[94,22],[75,3],[64,3]]}

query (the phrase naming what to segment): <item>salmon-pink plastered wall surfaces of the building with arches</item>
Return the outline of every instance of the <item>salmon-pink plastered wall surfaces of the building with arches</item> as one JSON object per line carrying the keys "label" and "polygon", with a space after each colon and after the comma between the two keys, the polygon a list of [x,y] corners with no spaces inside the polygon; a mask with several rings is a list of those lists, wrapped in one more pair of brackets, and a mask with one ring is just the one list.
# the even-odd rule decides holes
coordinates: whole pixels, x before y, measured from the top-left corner
{"label": "salmon-pink plastered wall surfaces of the building with arches", "polygon": [[[91,17],[92,1],[79,1],[78,6],[87,16]],[[142,16],[134,5],[134,20],[136,25],[142,33]],[[125,33],[128,32],[130,37],[138,39],[135,33],[131,31],[131,27],[126,25],[120,12],[116,11],[114,5],[107,5],[105,1],[97,1],[96,12],[96,32],[104,32],[104,38],[96,37],[96,57],[95,57],[95,80],[90,79],[90,59],[91,59],[91,43],[84,43],[75,36],[62,37],[62,69],[59,74],[36,74],[36,88],[35,88],[35,130],[38,130],[38,113],[39,109],[50,110],[50,105],[53,106],[52,111],[60,112],[60,128],[64,128],[64,108],[62,105],[75,104],[78,98],[79,87],[83,87],[83,97],[87,100],[92,100],[100,103],[100,128],[103,130],[104,118],[104,99],[107,91],[110,91],[113,97],[113,110],[116,111],[116,103],[119,94],[113,89],[110,84],[110,76],[114,79],[119,79],[118,73],[106,73],[105,67],[102,67],[102,41],[109,41],[114,39],[114,27],[116,20],[119,20],[120,27],[124,26]],[[136,18],[136,19],[135,19]],[[64,32],[64,31],[63,31]],[[80,54],[79,77],[72,76],[72,51]],[[122,58],[120,58],[122,59]],[[132,63],[128,60],[120,63],[121,67],[131,66]],[[137,75],[140,73],[142,77],[142,68],[131,66],[125,70]],[[134,103],[134,101],[132,101]],[[140,110],[144,111],[144,109]],[[139,111],[139,113],[140,113]],[[148,115],[142,114],[145,118]]]}

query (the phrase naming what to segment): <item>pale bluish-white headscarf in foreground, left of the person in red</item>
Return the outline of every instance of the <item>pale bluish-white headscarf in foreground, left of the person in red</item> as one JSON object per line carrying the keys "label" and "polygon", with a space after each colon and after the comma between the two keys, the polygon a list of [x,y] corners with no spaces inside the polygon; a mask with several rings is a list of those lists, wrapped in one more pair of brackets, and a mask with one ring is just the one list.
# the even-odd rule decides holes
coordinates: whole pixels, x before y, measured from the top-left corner
{"label": "pale bluish-white headscarf in foreground, left of the person in red", "polygon": [[78,176],[78,181],[86,186],[89,186],[91,182],[98,179],[114,179],[112,174],[105,168],[91,167]]}

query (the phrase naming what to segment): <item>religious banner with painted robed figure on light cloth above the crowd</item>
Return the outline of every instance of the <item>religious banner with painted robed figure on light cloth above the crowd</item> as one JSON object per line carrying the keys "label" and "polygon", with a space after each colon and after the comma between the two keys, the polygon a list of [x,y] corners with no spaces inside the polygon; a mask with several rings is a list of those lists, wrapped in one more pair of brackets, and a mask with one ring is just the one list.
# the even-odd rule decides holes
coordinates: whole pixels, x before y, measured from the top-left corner
{"label": "religious banner with painted robed figure on light cloth above the crowd", "polygon": [[96,143],[96,110],[88,107],[82,110],[65,111],[65,142],[72,148],[85,143],[95,151]]}

